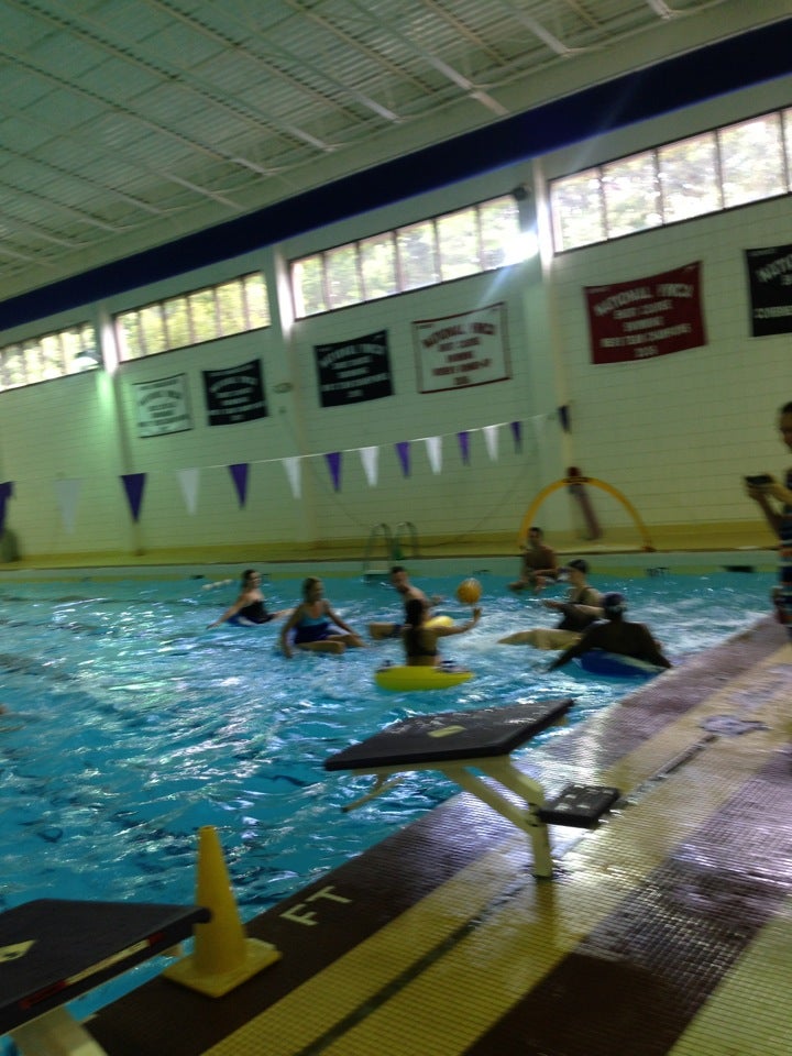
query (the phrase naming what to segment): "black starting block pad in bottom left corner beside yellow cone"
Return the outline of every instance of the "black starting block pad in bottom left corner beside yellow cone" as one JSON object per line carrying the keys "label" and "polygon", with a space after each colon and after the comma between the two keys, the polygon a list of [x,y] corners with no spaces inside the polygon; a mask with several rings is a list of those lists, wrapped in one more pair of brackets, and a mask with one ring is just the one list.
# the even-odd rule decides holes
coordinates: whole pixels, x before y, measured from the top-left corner
{"label": "black starting block pad in bottom left corner beside yellow cone", "polygon": [[199,905],[37,899],[0,913],[0,1035],[178,945]]}

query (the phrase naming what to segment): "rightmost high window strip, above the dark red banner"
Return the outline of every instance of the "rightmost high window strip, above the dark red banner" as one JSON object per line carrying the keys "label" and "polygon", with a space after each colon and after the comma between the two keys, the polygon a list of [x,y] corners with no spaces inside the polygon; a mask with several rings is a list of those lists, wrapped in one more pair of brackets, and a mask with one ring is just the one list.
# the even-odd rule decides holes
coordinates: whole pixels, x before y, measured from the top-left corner
{"label": "rightmost high window strip, above the dark red banner", "polygon": [[556,252],[790,193],[792,110],[550,183]]}

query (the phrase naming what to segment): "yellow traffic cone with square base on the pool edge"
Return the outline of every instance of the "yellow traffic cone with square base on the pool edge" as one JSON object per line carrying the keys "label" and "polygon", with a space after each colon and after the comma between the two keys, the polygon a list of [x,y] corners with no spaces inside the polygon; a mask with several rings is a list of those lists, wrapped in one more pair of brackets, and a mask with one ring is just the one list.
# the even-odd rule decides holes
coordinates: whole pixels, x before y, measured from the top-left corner
{"label": "yellow traffic cone with square base on the pool edge", "polygon": [[198,837],[196,903],[211,910],[211,920],[194,926],[193,953],[166,968],[164,975],[210,998],[221,998],[279,960],[280,952],[271,943],[245,936],[217,829],[204,825]]}

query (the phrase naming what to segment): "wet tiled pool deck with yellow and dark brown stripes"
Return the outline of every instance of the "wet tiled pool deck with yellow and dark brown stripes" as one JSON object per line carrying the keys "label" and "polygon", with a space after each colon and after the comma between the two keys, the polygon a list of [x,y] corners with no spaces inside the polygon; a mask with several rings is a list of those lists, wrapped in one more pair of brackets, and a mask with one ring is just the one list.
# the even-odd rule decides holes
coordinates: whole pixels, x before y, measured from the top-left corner
{"label": "wet tiled pool deck with yellow and dark brown stripes", "polygon": [[788,1056],[791,700],[768,617],[520,750],[623,793],[551,826],[552,879],[463,793],[251,922],[283,957],[227,997],[157,978],[88,1027],[110,1056]]}

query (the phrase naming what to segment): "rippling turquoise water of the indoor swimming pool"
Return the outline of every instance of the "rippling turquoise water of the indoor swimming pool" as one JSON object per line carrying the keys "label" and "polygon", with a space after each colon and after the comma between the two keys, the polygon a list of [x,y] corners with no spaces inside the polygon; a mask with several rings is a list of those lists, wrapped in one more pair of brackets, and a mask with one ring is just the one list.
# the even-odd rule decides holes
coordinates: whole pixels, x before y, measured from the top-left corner
{"label": "rippling turquoise water of the indoor swimming pool", "polygon": [[[421,574],[466,618],[458,578]],[[387,693],[373,683],[397,641],[343,657],[276,649],[280,624],[208,623],[235,584],[90,580],[24,583],[0,592],[0,910],[34,898],[191,902],[196,831],[218,828],[248,920],[455,791],[418,773],[353,814],[340,807],[371,778],[328,774],[323,760],[388,723],[437,711],[573,696],[572,722],[635,683],[570,664],[541,673],[551,654],[497,646],[505,634],[552,626],[539,600],[513,595],[507,576],[480,573],[484,609],[471,632],[441,641],[444,659],[475,679],[442,692]],[[766,615],[769,573],[609,578],[632,618],[648,623],[675,662]],[[398,618],[386,583],[328,580],[332,606],[355,629]],[[272,608],[299,582],[264,583]],[[560,596],[553,587],[548,596]],[[549,730],[544,738],[563,736]],[[526,748],[525,752],[531,749]]]}

